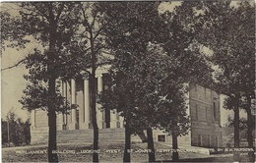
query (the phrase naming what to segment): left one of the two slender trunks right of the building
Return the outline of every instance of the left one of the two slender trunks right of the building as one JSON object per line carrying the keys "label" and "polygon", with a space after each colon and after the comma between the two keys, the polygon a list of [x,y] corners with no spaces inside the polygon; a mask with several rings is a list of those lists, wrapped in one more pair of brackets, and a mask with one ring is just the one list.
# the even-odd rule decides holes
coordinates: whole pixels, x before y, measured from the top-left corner
{"label": "left one of the two slender trunks right of the building", "polygon": [[[234,118],[233,118],[233,128],[234,128],[234,148],[239,148],[239,98],[235,96],[234,98]],[[233,153],[234,161],[240,160],[240,153],[234,152]]]}

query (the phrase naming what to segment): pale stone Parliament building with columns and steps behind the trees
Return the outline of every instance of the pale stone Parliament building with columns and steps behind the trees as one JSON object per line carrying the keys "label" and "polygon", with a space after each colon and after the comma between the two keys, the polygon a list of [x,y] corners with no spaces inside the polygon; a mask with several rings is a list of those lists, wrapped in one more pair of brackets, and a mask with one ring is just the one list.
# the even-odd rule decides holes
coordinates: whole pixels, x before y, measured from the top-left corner
{"label": "pale stone Parliament building with columns and steps behind the trees", "polygon": [[[109,67],[108,67],[109,68]],[[96,88],[102,91],[107,80],[107,68],[96,71]],[[61,93],[71,104],[78,104],[70,114],[57,115],[57,141],[93,141],[91,118],[91,94],[88,80],[76,79],[62,81]],[[220,112],[220,94],[200,85],[190,85],[187,94],[187,113],[191,120],[191,130],[187,136],[179,136],[178,143],[189,146],[221,147],[222,129]],[[99,105],[96,104],[98,108]],[[97,110],[99,141],[124,141],[124,118],[113,111]],[[33,110],[30,113],[32,144],[46,143],[48,133],[47,113]],[[154,130],[154,140],[171,143],[171,136],[160,130]],[[139,136],[132,136],[132,141],[141,141]]]}

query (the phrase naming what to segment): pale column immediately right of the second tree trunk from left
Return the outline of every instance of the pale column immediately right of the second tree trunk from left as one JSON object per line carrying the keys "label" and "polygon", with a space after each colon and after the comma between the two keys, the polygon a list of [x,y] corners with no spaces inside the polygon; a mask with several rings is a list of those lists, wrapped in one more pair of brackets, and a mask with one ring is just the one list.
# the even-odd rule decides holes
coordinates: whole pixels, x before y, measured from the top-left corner
{"label": "pale column immediately right of the second tree trunk from left", "polygon": [[[101,92],[103,90],[103,84],[102,84],[102,75],[97,76],[97,92]],[[96,104],[96,115],[97,115],[97,127],[98,129],[104,128],[104,122],[103,122],[103,112],[99,110],[100,105]]]}

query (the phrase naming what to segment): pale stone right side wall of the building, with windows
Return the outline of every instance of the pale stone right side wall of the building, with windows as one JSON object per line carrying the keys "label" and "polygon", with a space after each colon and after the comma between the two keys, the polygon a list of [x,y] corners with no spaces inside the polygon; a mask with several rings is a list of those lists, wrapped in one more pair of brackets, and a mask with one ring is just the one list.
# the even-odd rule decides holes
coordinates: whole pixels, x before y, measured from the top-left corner
{"label": "pale stone right side wall of the building, with windows", "polygon": [[221,147],[220,94],[200,85],[189,91],[191,145]]}

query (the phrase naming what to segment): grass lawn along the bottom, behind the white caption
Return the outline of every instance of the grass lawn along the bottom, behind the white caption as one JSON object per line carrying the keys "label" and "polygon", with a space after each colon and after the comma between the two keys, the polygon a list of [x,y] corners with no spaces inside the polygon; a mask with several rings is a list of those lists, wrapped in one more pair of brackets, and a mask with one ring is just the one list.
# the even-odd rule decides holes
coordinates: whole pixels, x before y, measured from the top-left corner
{"label": "grass lawn along the bottom, behind the white caption", "polygon": [[[99,143],[100,162],[122,162],[123,158],[123,143]],[[132,162],[147,162],[148,153],[145,151],[147,149],[147,143],[132,143],[131,148],[134,150],[131,153]],[[168,146],[162,145],[160,143],[155,144],[156,149],[170,149]],[[90,152],[92,145],[88,144],[62,144],[58,145],[59,161],[60,162],[92,162],[92,153]],[[113,149],[113,150],[111,150]],[[47,162],[47,147],[29,147],[26,149],[8,149],[2,150],[2,161],[3,162]],[[160,151],[160,150],[159,150]],[[41,153],[35,153],[41,152]],[[244,157],[244,156],[243,156]],[[230,162],[231,157],[211,157],[199,153],[183,152],[179,153],[179,158],[181,161],[186,162]],[[157,152],[156,160],[169,162],[171,161],[171,152]],[[242,158],[242,161],[247,162],[246,156]]]}

